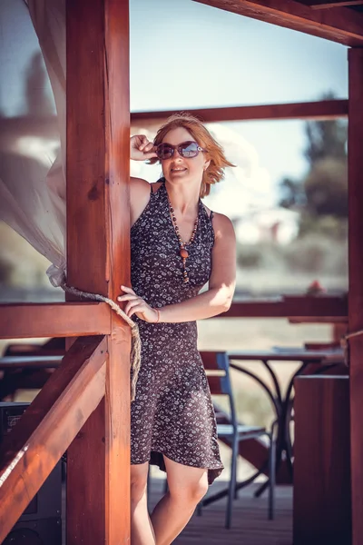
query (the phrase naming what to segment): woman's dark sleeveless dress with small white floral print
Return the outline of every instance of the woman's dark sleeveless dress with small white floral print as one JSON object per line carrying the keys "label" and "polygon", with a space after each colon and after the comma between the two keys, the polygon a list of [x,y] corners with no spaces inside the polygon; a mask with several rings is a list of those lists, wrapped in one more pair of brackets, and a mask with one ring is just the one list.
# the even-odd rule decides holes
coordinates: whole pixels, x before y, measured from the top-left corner
{"label": "woman's dark sleeveless dress with small white floral print", "polygon": [[[152,188],[151,188],[152,189]],[[199,201],[199,223],[188,246],[183,282],[180,246],[165,184],[131,229],[132,289],[152,307],[194,297],[211,275],[214,232]],[[223,469],[207,377],[197,350],[197,323],[138,322],[142,362],[131,405],[132,464],[151,461],[165,471],[172,461],[208,469],[211,484]]]}

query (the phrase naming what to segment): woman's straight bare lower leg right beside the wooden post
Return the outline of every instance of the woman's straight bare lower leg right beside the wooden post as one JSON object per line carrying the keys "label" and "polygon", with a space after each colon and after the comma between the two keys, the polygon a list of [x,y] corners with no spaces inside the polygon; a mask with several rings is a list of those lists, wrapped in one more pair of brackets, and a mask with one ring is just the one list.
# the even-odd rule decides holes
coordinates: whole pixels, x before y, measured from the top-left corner
{"label": "woman's straight bare lower leg right beside the wooden post", "polygon": [[147,509],[147,475],[149,462],[131,466],[131,542],[132,545],[155,545],[155,534]]}

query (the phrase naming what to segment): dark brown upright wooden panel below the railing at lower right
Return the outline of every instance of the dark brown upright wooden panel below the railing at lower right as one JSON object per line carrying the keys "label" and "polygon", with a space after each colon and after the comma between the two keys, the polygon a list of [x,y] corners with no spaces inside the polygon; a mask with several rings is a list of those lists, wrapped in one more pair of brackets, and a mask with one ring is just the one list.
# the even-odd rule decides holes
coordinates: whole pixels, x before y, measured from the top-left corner
{"label": "dark brown upright wooden panel below the railing at lower right", "polygon": [[305,376],[294,385],[294,545],[349,545],[348,377]]}

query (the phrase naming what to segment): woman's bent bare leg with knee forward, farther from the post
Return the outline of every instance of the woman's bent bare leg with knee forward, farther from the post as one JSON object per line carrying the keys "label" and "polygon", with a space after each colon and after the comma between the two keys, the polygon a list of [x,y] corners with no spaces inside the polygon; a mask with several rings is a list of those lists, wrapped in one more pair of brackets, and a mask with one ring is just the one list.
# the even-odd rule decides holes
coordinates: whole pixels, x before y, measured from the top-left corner
{"label": "woman's bent bare leg with knee forward, farther from the post", "polygon": [[191,519],[208,490],[207,470],[191,468],[164,456],[169,491],[152,511],[156,545],[170,545]]}

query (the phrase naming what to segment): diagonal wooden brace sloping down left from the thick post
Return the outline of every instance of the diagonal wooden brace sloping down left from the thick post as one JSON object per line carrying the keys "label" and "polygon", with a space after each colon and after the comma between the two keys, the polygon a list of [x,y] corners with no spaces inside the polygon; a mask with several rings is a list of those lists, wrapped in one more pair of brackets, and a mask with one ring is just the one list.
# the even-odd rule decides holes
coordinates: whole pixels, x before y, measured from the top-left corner
{"label": "diagonal wooden brace sloping down left from the thick post", "polygon": [[0,452],[0,542],[104,395],[106,341],[78,339]]}

